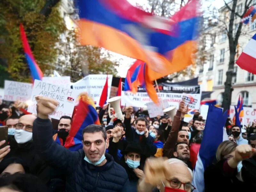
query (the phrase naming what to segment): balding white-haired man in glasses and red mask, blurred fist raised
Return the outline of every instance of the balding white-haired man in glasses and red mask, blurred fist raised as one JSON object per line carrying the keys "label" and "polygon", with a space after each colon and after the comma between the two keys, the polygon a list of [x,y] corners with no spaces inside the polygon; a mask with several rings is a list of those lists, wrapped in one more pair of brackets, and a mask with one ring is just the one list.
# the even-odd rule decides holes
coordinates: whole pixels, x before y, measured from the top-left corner
{"label": "balding white-haired man in glasses and red mask, blurred fist raised", "polygon": [[[146,161],[145,177],[138,184],[139,192],[193,191],[193,173],[183,161],[172,158],[152,158]],[[179,189],[179,190],[177,190]]]}

